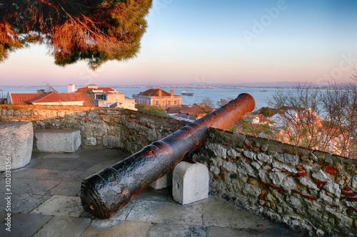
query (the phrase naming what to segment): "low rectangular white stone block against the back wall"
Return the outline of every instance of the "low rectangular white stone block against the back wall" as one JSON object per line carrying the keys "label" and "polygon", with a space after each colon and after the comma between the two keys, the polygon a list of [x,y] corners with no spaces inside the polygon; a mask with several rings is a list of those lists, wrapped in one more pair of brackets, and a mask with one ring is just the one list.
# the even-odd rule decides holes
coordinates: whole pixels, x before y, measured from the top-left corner
{"label": "low rectangular white stone block against the back wall", "polygon": [[39,152],[76,152],[81,146],[79,130],[34,130]]}

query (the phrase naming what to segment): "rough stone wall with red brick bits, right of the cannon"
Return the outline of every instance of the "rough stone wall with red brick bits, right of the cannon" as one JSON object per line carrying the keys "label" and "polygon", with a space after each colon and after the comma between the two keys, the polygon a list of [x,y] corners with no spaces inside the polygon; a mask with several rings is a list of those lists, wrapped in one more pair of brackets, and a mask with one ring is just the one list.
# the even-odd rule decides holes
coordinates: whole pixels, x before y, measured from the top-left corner
{"label": "rough stone wall with red brick bits, right of the cannon", "polygon": [[357,235],[356,160],[211,129],[211,194],[317,236]]}

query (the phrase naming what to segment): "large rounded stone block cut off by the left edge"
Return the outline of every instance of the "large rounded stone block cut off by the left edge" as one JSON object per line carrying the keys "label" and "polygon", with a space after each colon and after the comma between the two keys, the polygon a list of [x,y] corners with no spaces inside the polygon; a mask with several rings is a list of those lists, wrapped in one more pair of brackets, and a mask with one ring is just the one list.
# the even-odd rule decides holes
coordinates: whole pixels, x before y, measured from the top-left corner
{"label": "large rounded stone block cut off by the left edge", "polygon": [[0,122],[0,171],[29,164],[33,142],[32,122]]}

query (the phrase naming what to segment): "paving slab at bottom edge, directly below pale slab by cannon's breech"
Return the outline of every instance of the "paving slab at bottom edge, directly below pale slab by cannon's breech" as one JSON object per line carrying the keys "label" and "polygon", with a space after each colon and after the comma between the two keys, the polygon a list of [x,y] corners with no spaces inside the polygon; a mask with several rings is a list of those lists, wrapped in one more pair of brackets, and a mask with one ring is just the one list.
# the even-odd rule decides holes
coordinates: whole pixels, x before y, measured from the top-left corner
{"label": "paving slab at bottom edge, directly below pale slab by cannon's breech", "polygon": [[34,234],[34,237],[78,237],[90,223],[90,218],[54,216],[49,223],[46,223],[43,228]]}

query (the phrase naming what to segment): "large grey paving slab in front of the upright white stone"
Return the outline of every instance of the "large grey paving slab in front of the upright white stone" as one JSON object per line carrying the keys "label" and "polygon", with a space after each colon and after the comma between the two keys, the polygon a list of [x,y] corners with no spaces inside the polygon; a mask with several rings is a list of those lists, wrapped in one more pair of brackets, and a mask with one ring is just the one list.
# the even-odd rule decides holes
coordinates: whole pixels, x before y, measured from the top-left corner
{"label": "large grey paving slab in front of the upright white stone", "polygon": [[136,201],[126,221],[202,225],[202,209],[202,204],[181,206],[161,201]]}

